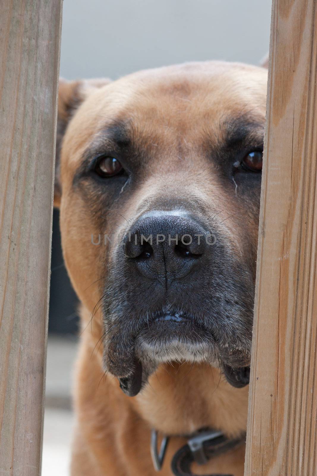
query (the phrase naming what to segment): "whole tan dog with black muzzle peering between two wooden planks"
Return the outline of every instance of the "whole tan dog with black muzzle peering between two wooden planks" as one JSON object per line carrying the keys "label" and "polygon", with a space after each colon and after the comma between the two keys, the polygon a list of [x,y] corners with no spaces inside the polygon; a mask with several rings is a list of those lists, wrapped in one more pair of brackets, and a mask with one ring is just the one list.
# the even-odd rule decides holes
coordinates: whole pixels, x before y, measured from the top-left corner
{"label": "whole tan dog with black muzzle peering between two wooden planks", "polygon": [[60,83],[55,203],[82,303],[73,476],[156,474],[153,429],[170,437],[163,476],[202,429],[174,474],[243,474],[266,83],[225,62]]}

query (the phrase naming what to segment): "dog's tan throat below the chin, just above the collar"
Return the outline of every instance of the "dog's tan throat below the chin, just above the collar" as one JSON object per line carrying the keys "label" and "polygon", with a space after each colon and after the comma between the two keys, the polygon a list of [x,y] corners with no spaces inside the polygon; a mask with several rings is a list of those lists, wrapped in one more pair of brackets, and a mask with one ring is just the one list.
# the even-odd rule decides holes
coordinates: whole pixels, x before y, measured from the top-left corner
{"label": "dog's tan throat below the chin, just above the collar", "polygon": [[165,435],[209,426],[237,436],[246,429],[248,389],[231,387],[206,363],[161,365],[133,400],[137,412]]}

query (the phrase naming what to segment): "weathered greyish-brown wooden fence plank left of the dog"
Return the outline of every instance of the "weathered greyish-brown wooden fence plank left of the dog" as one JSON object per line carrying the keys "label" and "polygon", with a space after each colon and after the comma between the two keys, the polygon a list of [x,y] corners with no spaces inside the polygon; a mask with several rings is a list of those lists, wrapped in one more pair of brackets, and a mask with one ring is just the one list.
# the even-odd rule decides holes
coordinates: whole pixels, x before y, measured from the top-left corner
{"label": "weathered greyish-brown wooden fence plank left of the dog", "polygon": [[40,474],[61,0],[0,15],[0,475]]}

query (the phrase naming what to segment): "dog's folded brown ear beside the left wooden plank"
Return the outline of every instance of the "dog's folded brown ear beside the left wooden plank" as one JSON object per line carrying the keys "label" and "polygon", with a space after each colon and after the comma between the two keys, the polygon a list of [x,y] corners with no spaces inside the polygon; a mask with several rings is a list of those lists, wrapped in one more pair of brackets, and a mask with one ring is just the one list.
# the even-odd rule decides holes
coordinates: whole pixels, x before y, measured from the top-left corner
{"label": "dog's folded brown ear beside the left wooden plank", "polygon": [[69,120],[80,104],[97,88],[108,84],[110,79],[83,79],[79,81],[67,81],[59,79],[58,87],[58,119],[56,131],[56,159],[55,159],[55,182],[54,182],[54,207],[59,207],[61,198],[61,185],[59,181],[59,155],[63,137]]}

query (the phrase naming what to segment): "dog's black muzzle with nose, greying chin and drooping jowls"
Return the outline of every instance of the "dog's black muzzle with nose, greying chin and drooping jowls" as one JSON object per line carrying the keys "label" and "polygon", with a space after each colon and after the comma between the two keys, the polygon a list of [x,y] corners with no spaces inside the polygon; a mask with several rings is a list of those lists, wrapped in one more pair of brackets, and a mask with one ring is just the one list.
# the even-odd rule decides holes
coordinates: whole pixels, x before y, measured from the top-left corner
{"label": "dog's black muzzle with nose, greying chin and drooping jowls", "polygon": [[231,385],[247,385],[252,278],[215,226],[183,211],[146,213],[126,230],[109,271],[104,362],[127,395],[180,359],[221,362]]}

